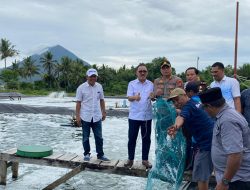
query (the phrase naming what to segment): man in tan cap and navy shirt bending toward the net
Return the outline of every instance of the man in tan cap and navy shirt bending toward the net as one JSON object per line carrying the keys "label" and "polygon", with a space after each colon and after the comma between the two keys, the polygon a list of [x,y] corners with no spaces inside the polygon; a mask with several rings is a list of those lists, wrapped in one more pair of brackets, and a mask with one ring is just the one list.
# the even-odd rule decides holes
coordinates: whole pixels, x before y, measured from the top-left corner
{"label": "man in tan cap and navy shirt bending toward the net", "polygon": [[177,109],[181,109],[168,134],[175,136],[177,130],[185,128],[196,141],[198,152],[195,154],[192,180],[198,182],[199,190],[208,190],[209,177],[213,171],[211,160],[211,143],[213,120],[200,108],[200,103],[190,99],[181,88],[174,89],[169,97]]}

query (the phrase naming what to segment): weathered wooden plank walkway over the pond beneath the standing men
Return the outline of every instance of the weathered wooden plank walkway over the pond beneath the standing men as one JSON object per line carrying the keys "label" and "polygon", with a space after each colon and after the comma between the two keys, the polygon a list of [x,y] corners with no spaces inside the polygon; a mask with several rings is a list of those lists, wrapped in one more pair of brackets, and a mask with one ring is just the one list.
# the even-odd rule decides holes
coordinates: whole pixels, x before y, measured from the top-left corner
{"label": "weathered wooden plank walkway over the pond beneath the standing men", "polygon": [[[18,177],[19,163],[72,169],[69,173],[49,184],[44,190],[54,189],[83,170],[137,177],[147,177],[148,175],[148,169],[141,164],[141,161],[135,161],[131,168],[126,168],[124,167],[125,160],[103,162],[92,158],[89,162],[85,162],[83,156],[72,153],[53,153],[44,158],[25,158],[17,156],[16,148],[13,148],[0,153],[0,185],[6,185],[8,167],[11,167],[12,178]],[[190,181],[191,174],[185,174],[183,180]]]}

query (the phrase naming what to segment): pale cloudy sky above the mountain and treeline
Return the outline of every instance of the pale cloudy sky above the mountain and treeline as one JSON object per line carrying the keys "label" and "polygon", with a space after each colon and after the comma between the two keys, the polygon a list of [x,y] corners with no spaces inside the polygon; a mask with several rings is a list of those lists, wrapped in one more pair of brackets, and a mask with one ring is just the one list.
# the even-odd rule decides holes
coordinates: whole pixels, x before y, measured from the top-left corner
{"label": "pale cloudy sky above the mountain and treeline", "polygon": [[[59,44],[98,66],[164,56],[177,73],[197,62],[202,70],[216,61],[234,64],[236,2],[0,0],[0,38],[19,50],[17,60]],[[239,0],[238,66],[250,63],[249,20],[250,0]]]}

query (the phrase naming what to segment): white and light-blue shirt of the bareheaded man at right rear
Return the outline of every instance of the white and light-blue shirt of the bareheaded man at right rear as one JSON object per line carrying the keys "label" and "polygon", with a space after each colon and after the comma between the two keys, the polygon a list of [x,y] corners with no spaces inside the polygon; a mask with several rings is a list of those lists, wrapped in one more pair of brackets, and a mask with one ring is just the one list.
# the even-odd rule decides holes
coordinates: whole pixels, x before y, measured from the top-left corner
{"label": "white and light-blue shirt of the bareheaded man at right rear", "polygon": [[240,84],[236,79],[224,76],[219,82],[213,81],[210,84],[210,87],[220,87],[222,96],[225,98],[227,104],[230,107],[235,108],[234,98],[240,97]]}

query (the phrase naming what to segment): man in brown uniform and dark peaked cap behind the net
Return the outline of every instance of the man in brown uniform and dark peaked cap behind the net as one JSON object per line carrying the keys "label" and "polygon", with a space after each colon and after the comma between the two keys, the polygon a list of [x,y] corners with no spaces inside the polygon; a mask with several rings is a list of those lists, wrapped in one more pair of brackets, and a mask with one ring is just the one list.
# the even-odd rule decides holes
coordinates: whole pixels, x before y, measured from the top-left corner
{"label": "man in brown uniform and dark peaked cap behind the net", "polygon": [[156,97],[163,97],[167,99],[171,90],[177,87],[183,88],[181,78],[172,75],[171,64],[166,58],[163,58],[161,75],[161,77],[154,80],[154,95]]}

